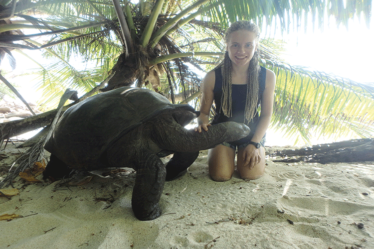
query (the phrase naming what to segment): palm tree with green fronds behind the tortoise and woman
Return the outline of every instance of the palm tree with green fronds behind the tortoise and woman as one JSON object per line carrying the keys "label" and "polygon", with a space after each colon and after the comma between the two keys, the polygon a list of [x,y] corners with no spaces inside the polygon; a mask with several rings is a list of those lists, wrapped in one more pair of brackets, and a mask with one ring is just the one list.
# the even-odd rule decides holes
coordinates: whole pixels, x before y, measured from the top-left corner
{"label": "palm tree with green fronds behind the tortoise and woman", "polygon": [[[287,32],[330,16],[346,25],[363,13],[370,21],[371,0],[2,0],[0,53],[43,50],[36,61],[39,87],[56,101],[66,88],[87,92],[106,79],[119,86],[148,87],[173,103],[197,101],[201,76],[222,58],[223,30],[237,19]],[[311,16],[311,17],[310,17]],[[311,18],[311,22],[309,22]],[[291,20],[293,24],[291,25]],[[31,29],[25,35],[20,30]],[[277,75],[273,127],[308,141],[311,132],[374,134],[373,85],[290,66],[262,42],[262,65]],[[74,56],[86,61],[78,68]],[[109,78],[108,78],[109,77]],[[53,89],[53,92],[52,92]]]}

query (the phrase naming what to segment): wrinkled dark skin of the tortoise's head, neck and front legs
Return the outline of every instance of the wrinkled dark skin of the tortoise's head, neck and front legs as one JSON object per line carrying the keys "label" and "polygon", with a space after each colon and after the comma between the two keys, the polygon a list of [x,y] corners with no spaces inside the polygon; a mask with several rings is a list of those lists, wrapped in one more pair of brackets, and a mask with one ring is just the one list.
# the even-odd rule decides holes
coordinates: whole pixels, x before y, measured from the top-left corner
{"label": "wrinkled dark skin of the tortoise's head, neck and front legs", "polygon": [[[199,133],[187,130],[170,115],[160,115],[110,146],[108,162],[113,167],[132,167],[137,171],[133,212],[139,220],[153,220],[161,215],[159,201],[166,177],[171,180],[186,170],[200,150],[238,140],[249,131],[244,124],[225,122],[211,125],[208,131]],[[166,166],[157,156],[161,150],[175,152]]]}

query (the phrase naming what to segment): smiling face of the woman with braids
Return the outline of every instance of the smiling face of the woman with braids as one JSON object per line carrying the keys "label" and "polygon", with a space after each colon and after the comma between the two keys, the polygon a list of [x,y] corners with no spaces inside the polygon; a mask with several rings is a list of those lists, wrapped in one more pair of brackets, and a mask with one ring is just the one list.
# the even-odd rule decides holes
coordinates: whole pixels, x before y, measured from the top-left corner
{"label": "smiling face of the woman with braids", "polygon": [[256,50],[256,35],[248,30],[237,30],[228,37],[226,49],[233,66],[249,66]]}

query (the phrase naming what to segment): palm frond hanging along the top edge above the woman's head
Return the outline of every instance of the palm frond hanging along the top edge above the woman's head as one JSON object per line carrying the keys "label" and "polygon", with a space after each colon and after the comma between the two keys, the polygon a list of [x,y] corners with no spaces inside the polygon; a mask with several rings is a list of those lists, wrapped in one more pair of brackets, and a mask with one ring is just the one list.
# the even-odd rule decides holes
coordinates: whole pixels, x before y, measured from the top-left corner
{"label": "palm frond hanging along the top edge above the woman's head", "polygon": [[[348,25],[348,20],[363,14],[367,26],[371,17],[372,1],[341,0],[210,0],[204,5],[203,16],[213,22],[222,23],[228,27],[229,23],[238,19],[252,20],[262,26],[277,25],[283,31],[291,29],[306,29],[317,22],[319,28],[330,16],[335,17],[338,25]],[[311,20],[309,19],[311,17]]]}

